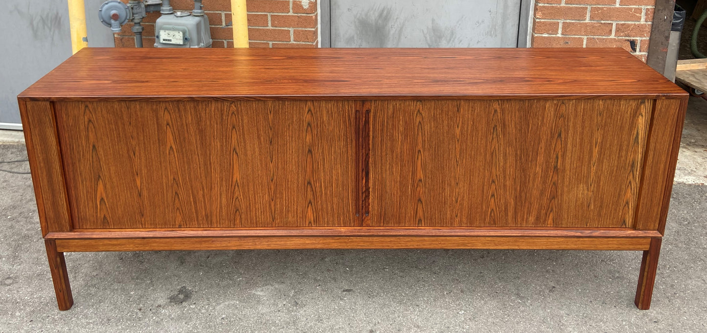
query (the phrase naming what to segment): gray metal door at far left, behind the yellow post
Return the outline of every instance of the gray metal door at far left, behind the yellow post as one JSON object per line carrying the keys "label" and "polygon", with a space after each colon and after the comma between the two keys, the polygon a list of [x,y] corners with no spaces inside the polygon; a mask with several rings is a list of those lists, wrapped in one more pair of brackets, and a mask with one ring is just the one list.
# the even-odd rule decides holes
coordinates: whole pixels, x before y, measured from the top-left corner
{"label": "gray metal door at far left, behind the yellow post", "polygon": [[[86,0],[88,45],[114,46],[98,21],[105,0]],[[17,95],[71,56],[66,0],[6,1],[0,11],[0,129],[20,129]]]}

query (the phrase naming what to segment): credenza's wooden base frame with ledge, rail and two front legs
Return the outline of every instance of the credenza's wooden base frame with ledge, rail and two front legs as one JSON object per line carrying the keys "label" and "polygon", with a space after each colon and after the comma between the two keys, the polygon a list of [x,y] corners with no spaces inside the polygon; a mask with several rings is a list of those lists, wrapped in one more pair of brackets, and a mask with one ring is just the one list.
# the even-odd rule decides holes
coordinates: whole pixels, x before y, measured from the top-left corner
{"label": "credenza's wooden base frame with ledge, rail and two front legs", "polygon": [[[59,310],[69,310],[74,303],[63,252],[164,251],[164,250],[266,250],[266,249],[491,249],[491,250],[629,250],[643,251],[638,278],[636,306],[650,308],[655,271],[658,267],[660,237],[645,237],[654,232],[638,230],[567,230],[581,237],[550,237],[543,233],[556,230],[414,230],[390,228],[386,235],[368,235],[366,228],[228,230],[152,230],[95,231],[47,234],[47,256],[52,269],[54,291]],[[382,230],[378,230],[381,233]],[[523,233],[529,236],[522,236]],[[417,233],[418,235],[414,235]],[[455,233],[466,234],[464,236]],[[476,234],[472,236],[472,234]],[[520,233],[520,235],[515,235]],[[218,236],[221,234],[221,236]],[[267,235],[265,235],[267,234]],[[338,234],[338,235],[334,235]],[[420,235],[427,234],[427,235]],[[433,235],[442,234],[442,235]],[[532,236],[530,236],[532,235]],[[541,235],[541,236],[539,236]],[[110,237],[112,236],[112,237]],[[146,237],[151,236],[151,237]],[[103,238],[97,238],[103,237]]]}

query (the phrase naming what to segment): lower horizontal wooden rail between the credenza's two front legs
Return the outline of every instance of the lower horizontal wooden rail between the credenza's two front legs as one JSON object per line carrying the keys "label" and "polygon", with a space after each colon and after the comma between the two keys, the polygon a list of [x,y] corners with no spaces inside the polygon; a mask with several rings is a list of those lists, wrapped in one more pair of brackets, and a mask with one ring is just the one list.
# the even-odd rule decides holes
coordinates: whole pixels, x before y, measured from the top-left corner
{"label": "lower horizontal wooden rail between the credenza's two front legs", "polygon": [[243,237],[56,240],[64,252],[267,249],[648,250],[650,238]]}

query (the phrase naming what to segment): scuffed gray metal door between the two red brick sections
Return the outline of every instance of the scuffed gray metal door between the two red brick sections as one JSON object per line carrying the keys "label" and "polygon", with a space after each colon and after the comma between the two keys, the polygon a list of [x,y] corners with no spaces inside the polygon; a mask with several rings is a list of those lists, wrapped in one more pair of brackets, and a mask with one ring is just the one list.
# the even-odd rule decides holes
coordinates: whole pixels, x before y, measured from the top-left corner
{"label": "scuffed gray metal door between the two red brick sections", "polygon": [[518,46],[521,0],[330,0],[329,6],[332,47]]}

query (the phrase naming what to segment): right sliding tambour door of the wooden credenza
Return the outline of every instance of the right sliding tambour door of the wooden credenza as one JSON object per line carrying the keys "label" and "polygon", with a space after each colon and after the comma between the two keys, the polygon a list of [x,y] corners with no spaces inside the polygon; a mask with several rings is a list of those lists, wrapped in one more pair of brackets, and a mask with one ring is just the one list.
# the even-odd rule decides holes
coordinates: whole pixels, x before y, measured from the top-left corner
{"label": "right sliding tambour door of the wooden credenza", "polygon": [[374,100],[372,226],[624,227],[653,100]]}

